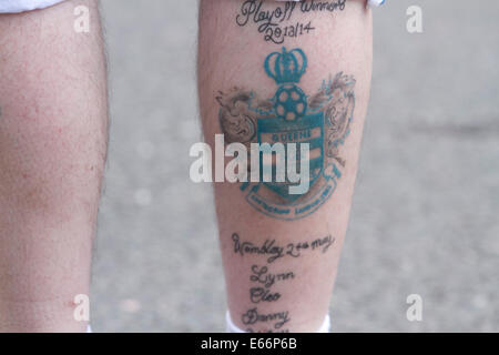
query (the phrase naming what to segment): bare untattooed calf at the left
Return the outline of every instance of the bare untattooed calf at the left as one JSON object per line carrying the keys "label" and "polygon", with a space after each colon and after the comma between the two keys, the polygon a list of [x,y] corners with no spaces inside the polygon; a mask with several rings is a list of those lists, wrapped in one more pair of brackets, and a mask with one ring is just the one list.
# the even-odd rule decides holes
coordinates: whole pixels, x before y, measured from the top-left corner
{"label": "bare untattooed calf at the left", "polygon": [[[74,8],[90,32],[74,31]],[[80,332],[106,154],[96,0],[0,16],[0,332]]]}

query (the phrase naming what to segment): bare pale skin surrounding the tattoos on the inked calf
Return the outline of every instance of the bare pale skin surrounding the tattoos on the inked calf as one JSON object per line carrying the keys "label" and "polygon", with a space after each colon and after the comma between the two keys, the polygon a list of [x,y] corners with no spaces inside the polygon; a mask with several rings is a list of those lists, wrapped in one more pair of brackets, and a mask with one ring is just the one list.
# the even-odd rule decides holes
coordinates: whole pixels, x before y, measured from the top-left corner
{"label": "bare pale skin surrounding the tattoos on the inked calf", "polygon": [[[215,203],[220,226],[220,241],[227,286],[227,302],[233,323],[243,331],[254,332],[316,332],[329,312],[329,302],[337,272],[339,255],[347,230],[354,192],[357,162],[361,142],[364,119],[369,99],[371,75],[371,14],[365,1],[347,1],[344,11],[303,13],[296,11],[289,21],[313,21],[315,31],[298,38],[288,38],[283,44],[264,40],[258,24],[236,23],[243,1],[202,0],[198,38],[198,92],[201,116],[206,142],[214,150],[214,136],[223,133],[216,101],[220,91],[234,87],[254,90],[259,98],[272,98],[276,83],[263,70],[266,55],[301,48],[308,59],[306,74],[299,87],[315,93],[324,80],[338,72],[353,75],[355,111],[350,134],[340,146],[345,160],[342,179],[328,201],[310,215],[282,221],[253,209],[245,200],[240,184],[215,183]],[[266,1],[266,10],[275,10],[281,2]],[[299,257],[282,257],[268,263],[258,254],[235,252],[234,233],[242,242],[262,245],[275,240],[278,245],[313,242],[332,235],[335,240],[327,252],[303,252]],[[273,284],[271,294],[279,294],[276,301],[252,300],[251,290],[259,286],[251,280],[252,267],[266,266],[268,273],[288,274],[294,277]],[[256,301],[256,302],[254,302]],[[287,312],[287,321],[279,327],[275,322],[249,322],[247,312],[257,308],[258,314]],[[334,316],[333,316],[334,318]]]}

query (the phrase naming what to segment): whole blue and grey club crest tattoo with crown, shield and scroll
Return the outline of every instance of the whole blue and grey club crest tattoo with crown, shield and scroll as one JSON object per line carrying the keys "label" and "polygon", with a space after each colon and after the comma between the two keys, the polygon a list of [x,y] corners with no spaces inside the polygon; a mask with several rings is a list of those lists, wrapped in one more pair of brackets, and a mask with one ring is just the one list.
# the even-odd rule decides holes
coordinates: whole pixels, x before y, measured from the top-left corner
{"label": "whole blue and grey club crest tattoo with crown, shield and scroll", "polygon": [[[283,48],[264,62],[266,74],[277,84],[274,97],[263,100],[252,90],[234,88],[216,98],[227,144],[243,143],[248,150],[251,143],[309,144],[308,192],[289,194],[288,181],[241,185],[254,209],[279,220],[298,220],[317,211],[333,195],[346,165],[342,146],[354,116],[355,79],[339,72],[307,95],[298,87],[306,69],[302,49]],[[259,162],[262,171],[262,159]]]}

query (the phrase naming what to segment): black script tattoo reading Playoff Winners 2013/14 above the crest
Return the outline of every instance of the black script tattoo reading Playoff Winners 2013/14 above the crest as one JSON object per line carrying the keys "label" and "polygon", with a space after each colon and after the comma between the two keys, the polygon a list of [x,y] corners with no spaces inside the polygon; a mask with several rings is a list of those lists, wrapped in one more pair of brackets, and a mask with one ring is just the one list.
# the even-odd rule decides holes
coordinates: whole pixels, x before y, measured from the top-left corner
{"label": "black script tattoo reading Playoff Winners 2013/14 above the crest", "polygon": [[242,3],[235,21],[240,27],[256,26],[266,42],[282,44],[288,38],[297,38],[315,31],[313,21],[302,18],[294,20],[295,13],[337,12],[345,10],[346,0],[285,2],[276,6],[263,0],[246,0]]}

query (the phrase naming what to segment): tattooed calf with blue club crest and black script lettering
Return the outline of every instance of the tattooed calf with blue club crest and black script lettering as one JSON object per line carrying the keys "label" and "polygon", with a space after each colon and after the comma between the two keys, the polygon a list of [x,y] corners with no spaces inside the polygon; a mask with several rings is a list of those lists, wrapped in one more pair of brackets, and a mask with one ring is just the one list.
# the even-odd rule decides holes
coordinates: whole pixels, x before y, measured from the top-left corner
{"label": "tattooed calf with blue club crest and black script lettering", "polygon": [[228,308],[243,331],[316,332],[328,313],[369,97],[371,18],[365,1],[327,2],[201,1],[200,104],[213,152],[215,133],[225,144],[310,149],[310,187],[298,197],[285,184],[215,183]]}

